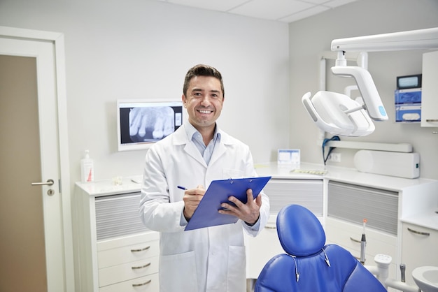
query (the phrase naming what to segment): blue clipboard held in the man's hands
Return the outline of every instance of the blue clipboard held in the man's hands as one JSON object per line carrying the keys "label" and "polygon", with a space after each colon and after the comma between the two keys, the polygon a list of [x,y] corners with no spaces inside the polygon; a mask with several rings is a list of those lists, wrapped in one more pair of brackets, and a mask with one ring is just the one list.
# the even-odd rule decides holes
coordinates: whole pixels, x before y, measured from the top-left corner
{"label": "blue clipboard held in the man's hands", "polygon": [[[185,231],[193,229],[236,223],[237,217],[220,214],[220,204],[231,203],[229,196],[235,196],[246,203],[246,190],[252,189],[254,198],[262,191],[271,177],[248,177],[228,180],[213,180],[192,218],[185,226]],[[232,204],[232,203],[231,203]]]}

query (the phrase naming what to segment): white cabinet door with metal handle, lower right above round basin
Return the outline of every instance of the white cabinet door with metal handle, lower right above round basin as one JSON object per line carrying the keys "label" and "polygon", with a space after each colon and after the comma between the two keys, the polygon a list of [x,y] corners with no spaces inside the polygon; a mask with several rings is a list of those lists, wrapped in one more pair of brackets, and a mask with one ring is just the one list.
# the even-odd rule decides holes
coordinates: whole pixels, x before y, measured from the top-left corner
{"label": "white cabinet door with metal handle, lower right above round basin", "polygon": [[406,265],[406,282],[415,284],[412,271],[425,265],[438,266],[438,231],[403,223],[402,263]]}

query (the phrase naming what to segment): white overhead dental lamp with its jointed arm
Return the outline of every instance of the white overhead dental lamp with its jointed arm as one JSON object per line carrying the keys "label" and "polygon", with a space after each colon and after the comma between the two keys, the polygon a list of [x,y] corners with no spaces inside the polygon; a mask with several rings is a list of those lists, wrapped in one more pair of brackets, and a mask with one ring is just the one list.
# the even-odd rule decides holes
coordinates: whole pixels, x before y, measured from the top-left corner
{"label": "white overhead dental lamp with its jointed arm", "polygon": [[371,74],[361,66],[347,66],[346,52],[381,52],[438,48],[438,27],[402,31],[391,34],[339,38],[332,41],[337,60],[332,73],[353,77],[363,104],[336,92],[307,92],[302,97],[304,108],[313,122],[325,132],[341,136],[367,136],[375,129],[374,121],[386,121],[388,115],[374,85]]}

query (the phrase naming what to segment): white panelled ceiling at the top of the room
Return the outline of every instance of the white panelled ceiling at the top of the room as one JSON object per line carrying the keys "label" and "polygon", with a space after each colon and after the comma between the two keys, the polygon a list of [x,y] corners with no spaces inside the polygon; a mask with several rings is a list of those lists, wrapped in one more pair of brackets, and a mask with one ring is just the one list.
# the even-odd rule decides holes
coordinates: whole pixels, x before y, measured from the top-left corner
{"label": "white panelled ceiling at the top of the room", "polygon": [[157,0],[264,20],[294,22],[356,0]]}

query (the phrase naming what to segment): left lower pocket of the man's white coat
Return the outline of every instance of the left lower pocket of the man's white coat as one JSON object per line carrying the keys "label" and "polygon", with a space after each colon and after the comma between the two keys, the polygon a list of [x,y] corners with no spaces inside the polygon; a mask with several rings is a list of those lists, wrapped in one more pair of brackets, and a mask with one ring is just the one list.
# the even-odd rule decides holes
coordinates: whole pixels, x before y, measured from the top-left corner
{"label": "left lower pocket of the man's white coat", "polygon": [[195,251],[160,257],[161,292],[197,292]]}

